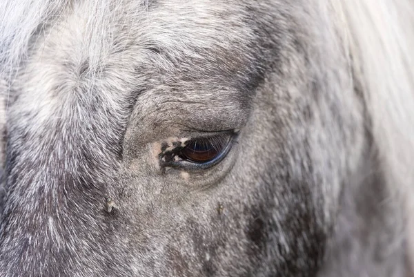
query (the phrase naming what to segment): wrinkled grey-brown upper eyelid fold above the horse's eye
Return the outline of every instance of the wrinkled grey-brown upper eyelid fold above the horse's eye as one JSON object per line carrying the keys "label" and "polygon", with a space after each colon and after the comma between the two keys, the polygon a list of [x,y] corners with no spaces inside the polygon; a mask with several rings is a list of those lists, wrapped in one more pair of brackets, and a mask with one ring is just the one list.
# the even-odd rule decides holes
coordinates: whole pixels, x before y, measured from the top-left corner
{"label": "wrinkled grey-brown upper eyelid fold above the horse's eye", "polygon": [[[191,95],[191,92],[187,91],[186,94]],[[160,99],[152,90],[144,91],[137,97],[131,122],[139,122],[143,132],[150,130],[154,123],[163,128],[200,133],[228,131],[246,124],[249,108],[238,100],[242,97],[219,102],[219,93],[207,94],[210,97],[190,97],[186,94],[171,93],[164,97],[166,99]],[[217,97],[212,96],[216,94]],[[148,122],[148,126],[145,122]]]}

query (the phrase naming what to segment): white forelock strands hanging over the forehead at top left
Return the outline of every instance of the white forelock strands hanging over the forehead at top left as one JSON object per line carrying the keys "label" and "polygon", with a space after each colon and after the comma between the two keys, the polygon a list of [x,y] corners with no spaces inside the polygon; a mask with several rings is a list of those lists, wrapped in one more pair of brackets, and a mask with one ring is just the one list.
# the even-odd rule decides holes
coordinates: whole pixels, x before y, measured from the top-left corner
{"label": "white forelock strands hanging over the forehead at top left", "polygon": [[[147,10],[149,0],[134,1],[137,17]],[[108,42],[112,39],[108,28],[113,26],[117,9],[121,5],[128,5],[123,0],[90,0],[86,1],[86,10],[94,11],[94,17],[85,16],[88,33],[83,41],[81,51],[88,56],[90,71],[99,68],[99,62],[108,55]],[[55,24],[59,18],[76,10],[79,3],[72,0],[21,0],[0,1],[0,75],[8,79],[13,70],[17,70],[24,62],[30,42],[36,34],[43,32],[47,26]],[[85,8],[85,6],[83,6]]]}

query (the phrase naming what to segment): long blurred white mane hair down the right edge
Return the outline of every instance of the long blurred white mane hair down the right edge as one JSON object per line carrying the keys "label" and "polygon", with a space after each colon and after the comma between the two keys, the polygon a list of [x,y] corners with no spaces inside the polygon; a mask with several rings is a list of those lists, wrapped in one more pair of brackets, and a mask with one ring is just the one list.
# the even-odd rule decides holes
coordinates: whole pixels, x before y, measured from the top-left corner
{"label": "long blurred white mane hair down the right edge", "polygon": [[[414,240],[414,5],[410,0],[341,1],[352,41],[355,82],[361,86],[373,141],[391,201],[406,213]],[[411,259],[411,262],[414,262]]]}

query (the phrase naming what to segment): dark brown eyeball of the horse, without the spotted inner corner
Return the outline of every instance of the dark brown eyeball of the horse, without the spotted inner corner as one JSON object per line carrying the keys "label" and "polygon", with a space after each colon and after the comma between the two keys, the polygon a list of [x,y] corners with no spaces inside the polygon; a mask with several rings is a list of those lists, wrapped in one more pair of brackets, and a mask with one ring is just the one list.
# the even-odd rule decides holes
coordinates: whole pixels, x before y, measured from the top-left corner
{"label": "dark brown eyeball of the horse, without the spotted inner corner", "polygon": [[215,160],[224,152],[230,137],[217,135],[190,140],[179,152],[183,160],[195,163],[206,163]]}

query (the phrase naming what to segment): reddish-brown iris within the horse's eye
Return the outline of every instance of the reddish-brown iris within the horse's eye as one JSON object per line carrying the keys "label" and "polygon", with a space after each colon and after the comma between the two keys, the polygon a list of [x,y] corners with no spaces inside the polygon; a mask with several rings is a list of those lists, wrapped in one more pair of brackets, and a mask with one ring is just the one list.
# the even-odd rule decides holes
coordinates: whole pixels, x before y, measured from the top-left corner
{"label": "reddish-brown iris within the horse's eye", "polygon": [[213,145],[208,140],[191,140],[181,150],[180,156],[192,162],[209,162],[217,157],[222,149],[221,144]]}

